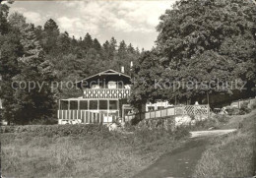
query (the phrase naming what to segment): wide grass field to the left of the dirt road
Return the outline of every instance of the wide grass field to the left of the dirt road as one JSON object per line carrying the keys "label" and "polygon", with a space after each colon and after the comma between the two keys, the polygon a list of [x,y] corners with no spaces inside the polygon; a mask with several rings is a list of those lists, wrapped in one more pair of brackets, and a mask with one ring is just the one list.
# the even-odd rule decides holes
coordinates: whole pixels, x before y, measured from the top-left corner
{"label": "wide grass field to the left of the dirt road", "polygon": [[35,133],[1,134],[3,176],[131,177],[186,140],[162,131],[66,137]]}

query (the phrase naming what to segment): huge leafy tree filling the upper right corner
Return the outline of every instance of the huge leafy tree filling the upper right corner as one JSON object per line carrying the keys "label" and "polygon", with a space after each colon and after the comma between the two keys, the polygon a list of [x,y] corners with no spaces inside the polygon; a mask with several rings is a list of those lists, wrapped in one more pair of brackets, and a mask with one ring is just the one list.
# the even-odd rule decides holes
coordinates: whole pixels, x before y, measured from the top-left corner
{"label": "huge leafy tree filling the upper right corner", "polygon": [[[256,8],[243,0],[181,0],[160,17],[157,48],[165,79],[246,81],[255,86]],[[245,42],[246,41],[246,42]],[[195,84],[195,83],[194,83]],[[219,84],[218,84],[219,85]],[[170,98],[234,93],[237,89],[181,89]],[[250,92],[250,90],[246,90]],[[250,95],[250,94],[248,94]]]}

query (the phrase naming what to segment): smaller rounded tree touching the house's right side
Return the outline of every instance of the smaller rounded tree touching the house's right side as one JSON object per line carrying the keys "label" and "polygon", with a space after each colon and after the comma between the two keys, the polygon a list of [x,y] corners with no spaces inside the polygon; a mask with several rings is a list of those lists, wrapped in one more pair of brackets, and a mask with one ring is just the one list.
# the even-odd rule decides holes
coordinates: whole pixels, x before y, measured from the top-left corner
{"label": "smaller rounded tree touching the house's right side", "polygon": [[146,102],[155,102],[162,96],[155,85],[163,70],[158,61],[159,57],[157,51],[146,51],[135,61],[129,102],[139,111],[142,111]]}

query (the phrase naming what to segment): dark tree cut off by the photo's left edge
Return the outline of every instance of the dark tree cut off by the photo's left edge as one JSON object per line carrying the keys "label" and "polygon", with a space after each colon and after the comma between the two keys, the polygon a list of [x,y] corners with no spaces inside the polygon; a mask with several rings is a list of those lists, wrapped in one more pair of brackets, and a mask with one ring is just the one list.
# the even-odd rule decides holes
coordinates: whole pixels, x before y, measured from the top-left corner
{"label": "dark tree cut off by the photo's left edge", "polygon": [[[5,12],[4,12],[5,11]],[[0,95],[4,109],[1,111],[1,118],[8,123],[14,121],[14,89],[12,89],[12,78],[19,74],[18,58],[24,54],[23,46],[20,42],[20,31],[11,26],[7,20],[9,8],[7,5],[0,7],[1,33],[0,33]],[[4,22],[2,24],[2,22]]]}

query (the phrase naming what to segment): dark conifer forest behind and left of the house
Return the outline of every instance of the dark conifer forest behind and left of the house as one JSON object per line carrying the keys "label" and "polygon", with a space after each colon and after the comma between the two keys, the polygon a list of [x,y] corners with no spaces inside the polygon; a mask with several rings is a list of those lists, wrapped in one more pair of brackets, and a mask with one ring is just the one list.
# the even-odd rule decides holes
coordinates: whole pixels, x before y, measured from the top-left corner
{"label": "dark conifer forest behind and left of the house", "polygon": [[[19,12],[9,14],[7,4],[0,6],[0,23],[2,117],[17,124],[48,122],[56,117],[57,99],[82,94],[80,89],[65,86],[52,91],[51,82],[75,82],[107,69],[120,72],[121,66],[130,75],[130,62],[141,53],[138,47],[114,37],[103,44],[88,32],[76,39],[67,31],[60,32],[52,19],[35,27]],[[42,90],[39,85],[17,89],[17,81],[27,86],[32,81],[45,84]]]}

